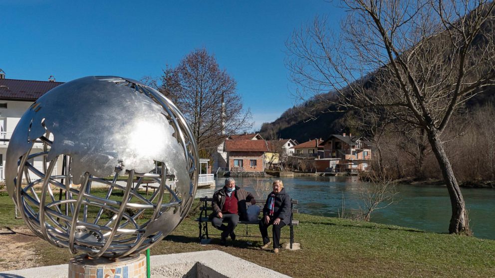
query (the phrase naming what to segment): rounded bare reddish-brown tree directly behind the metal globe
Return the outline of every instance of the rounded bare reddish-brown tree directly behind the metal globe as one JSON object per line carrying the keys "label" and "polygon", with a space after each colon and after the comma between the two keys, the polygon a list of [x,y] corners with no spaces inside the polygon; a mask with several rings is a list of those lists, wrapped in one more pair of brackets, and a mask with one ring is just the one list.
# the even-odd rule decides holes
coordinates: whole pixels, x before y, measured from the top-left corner
{"label": "rounded bare reddish-brown tree directly behind the metal globe", "polygon": [[167,66],[161,78],[160,91],[184,113],[200,149],[252,126],[236,81],[206,49],[191,52],[175,68]]}

